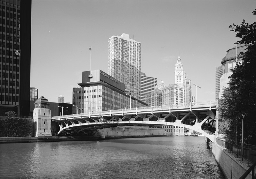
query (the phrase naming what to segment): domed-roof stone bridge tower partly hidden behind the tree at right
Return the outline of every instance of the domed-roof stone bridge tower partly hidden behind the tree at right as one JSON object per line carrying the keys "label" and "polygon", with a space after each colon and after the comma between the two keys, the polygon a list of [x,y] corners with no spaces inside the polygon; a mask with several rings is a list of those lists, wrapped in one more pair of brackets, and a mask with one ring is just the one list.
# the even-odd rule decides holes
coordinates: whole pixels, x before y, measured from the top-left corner
{"label": "domed-roof stone bridge tower partly hidden behind the tree at right", "polygon": [[[245,50],[248,47],[248,45],[244,44],[237,44],[237,62],[242,63],[243,61],[243,55],[241,55],[241,52],[246,52]],[[222,98],[223,88],[228,87],[228,82],[230,78],[229,76],[232,75],[231,69],[235,68],[236,66],[236,46],[233,48],[228,49],[227,55],[222,59],[221,61],[223,73],[220,77],[220,91],[219,91],[219,99]]]}

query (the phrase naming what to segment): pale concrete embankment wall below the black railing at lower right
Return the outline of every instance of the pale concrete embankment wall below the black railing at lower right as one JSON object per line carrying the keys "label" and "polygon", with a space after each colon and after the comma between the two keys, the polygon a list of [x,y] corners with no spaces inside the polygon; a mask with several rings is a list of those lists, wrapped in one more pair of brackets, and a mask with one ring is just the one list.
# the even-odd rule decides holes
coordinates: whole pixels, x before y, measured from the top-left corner
{"label": "pale concrete embankment wall below the black railing at lower right", "polygon": [[[237,158],[235,155],[228,153],[225,147],[212,142],[212,154],[217,161],[221,171],[226,179],[239,179],[250,168],[248,161]],[[249,174],[246,179],[251,179]]]}

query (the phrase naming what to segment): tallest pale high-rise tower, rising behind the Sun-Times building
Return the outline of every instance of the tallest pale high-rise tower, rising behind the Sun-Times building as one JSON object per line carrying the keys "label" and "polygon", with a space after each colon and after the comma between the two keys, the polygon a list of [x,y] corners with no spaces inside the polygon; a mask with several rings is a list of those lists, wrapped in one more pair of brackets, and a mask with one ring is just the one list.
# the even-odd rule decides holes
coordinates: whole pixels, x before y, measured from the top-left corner
{"label": "tallest pale high-rise tower, rising behind the Sun-Times building", "polygon": [[141,43],[129,34],[108,39],[108,74],[125,85],[125,93],[140,98]]}

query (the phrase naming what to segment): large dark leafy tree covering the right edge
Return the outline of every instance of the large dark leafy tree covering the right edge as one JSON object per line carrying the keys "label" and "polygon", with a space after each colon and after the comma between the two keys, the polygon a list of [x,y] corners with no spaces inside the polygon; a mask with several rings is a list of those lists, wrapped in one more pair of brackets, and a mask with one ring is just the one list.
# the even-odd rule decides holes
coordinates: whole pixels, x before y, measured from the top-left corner
{"label": "large dark leafy tree covering the right edge", "polygon": [[[253,11],[256,15],[256,9]],[[256,143],[256,22],[249,24],[245,20],[240,25],[229,25],[237,32],[241,44],[248,45],[243,52],[243,63],[236,63],[231,70],[228,87],[224,88],[223,98],[219,100],[219,132],[234,139],[235,126],[241,131],[241,117],[244,117],[244,142]],[[241,133],[239,134],[241,135]]]}

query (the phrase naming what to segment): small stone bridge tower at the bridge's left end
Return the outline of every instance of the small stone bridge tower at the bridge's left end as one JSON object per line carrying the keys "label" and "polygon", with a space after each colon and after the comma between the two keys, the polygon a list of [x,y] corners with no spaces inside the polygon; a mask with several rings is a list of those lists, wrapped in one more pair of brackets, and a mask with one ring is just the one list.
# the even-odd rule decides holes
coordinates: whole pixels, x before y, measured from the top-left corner
{"label": "small stone bridge tower at the bridge's left end", "polygon": [[35,102],[33,112],[34,132],[33,136],[52,136],[51,132],[51,110],[50,104],[44,96],[38,98]]}

